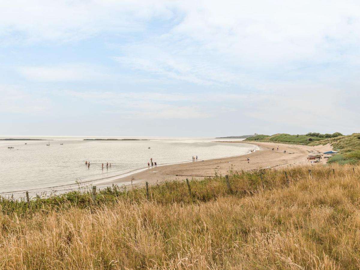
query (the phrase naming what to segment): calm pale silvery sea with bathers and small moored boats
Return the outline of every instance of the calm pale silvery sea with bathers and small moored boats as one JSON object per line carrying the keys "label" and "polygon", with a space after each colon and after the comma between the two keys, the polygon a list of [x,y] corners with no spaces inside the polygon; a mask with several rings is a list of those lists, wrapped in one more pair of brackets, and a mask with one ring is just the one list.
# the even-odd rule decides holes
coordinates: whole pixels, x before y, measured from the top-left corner
{"label": "calm pale silvery sea with bathers and small moored boats", "polygon": [[[237,156],[254,148],[248,144],[218,143],[213,138],[141,138],[149,141],[84,141],[84,137],[43,139],[50,139],[50,146],[46,146],[48,141],[0,141],[0,193],[19,194],[19,197],[26,190],[31,195],[41,190],[61,191],[76,181],[101,183],[147,168],[151,157],[158,165],[165,165],[191,161],[196,155],[199,160]],[[91,162],[90,168],[85,161]],[[106,168],[106,162],[111,163],[111,168]],[[105,163],[104,169],[102,163]]]}

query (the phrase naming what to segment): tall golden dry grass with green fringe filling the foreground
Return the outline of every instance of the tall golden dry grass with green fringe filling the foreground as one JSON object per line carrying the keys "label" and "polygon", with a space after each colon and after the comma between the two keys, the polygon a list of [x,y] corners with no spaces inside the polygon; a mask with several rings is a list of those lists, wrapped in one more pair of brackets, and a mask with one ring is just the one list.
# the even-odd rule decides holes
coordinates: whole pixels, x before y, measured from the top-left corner
{"label": "tall golden dry grass with green fringe filling the foreground", "polygon": [[360,167],[286,172],[3,200],[0,268],[359,269]]}

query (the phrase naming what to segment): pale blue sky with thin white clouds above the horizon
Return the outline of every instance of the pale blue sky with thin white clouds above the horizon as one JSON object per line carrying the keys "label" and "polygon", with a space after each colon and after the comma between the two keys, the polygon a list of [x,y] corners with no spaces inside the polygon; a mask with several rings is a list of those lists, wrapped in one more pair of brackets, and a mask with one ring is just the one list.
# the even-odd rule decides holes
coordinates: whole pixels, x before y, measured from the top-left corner
{"label": "pale blue sky with thin white clouds above the horizon", "polygon": [[359,68],[359,1],[1,1],[0,135],[351,134]]}

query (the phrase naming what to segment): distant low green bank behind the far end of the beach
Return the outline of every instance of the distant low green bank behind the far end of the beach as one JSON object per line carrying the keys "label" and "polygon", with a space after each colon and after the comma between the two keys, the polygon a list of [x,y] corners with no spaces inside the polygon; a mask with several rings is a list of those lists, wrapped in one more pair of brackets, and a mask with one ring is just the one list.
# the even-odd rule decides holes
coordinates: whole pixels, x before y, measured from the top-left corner
{"label": "distant low green bank behind the far end of the beach", "polygon": [[306,135],[290,135],[290,134],[274,134],[274,135],[256,135],[251,138],[245,139],[245,141],[262,141],[268,143],[287,143],[287,144],[309,144],[311,141],[320,141],[323,138],[306,136]]}

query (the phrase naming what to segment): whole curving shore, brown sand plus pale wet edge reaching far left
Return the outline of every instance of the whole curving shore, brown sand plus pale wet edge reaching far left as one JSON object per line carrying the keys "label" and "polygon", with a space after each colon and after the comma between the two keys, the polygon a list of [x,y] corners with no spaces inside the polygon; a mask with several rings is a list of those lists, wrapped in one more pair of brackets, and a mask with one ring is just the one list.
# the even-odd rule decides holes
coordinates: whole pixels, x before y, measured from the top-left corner
{"label": "whole curving shore, brown sand plus pale wet edge reaching far left", "polygon": [[[247,141],[224,141],[226,143],[243,143],[253,146],[249,149],[254,149],[253,153],[245,153],[237,156],[229,156],[222,158],[212,159],[199,159],[198,161],[183,161],[179,163],[162,164],[158,167],[139,168],[130,172],[125,172],[120,175],[109,176],[98,180],[89,180],[80,183],[81,188],[87,185],[96,185],[97,188],[105,188],[112,184],[118,186],[126,185],[138,185],[148,183],[159,183],[166,180],[185,180],[189,179],[203,179],[204,177],[214,177],[215,175],[226,175],[229,171],[251,171],[258,170],[260,168],[274,168],[293,166],[300,164],[311,164],[306,157],[310,152],[325,152],[332,150],[332,147],[327,145],[319,145],[316,147],[310,147],[307,145],[296,144],[280,144],[280,143],[262,143],[256,144],[248,143]],[[279,150],[276,150],[279,146]],[[275,148],[274,151],[271,148]],[[283,153],[286,150],[287,153]],[[247,162],[246,158],[250,158]],[[321,159],[321,163],[326,163],[325,159]],[[79,185],[77,183],[70,185],[58,185],[47,187],[41,190],[27,189],[32,194],[39,194],[41,192],[52,192],[57,190],[58,194],[77,190]],[[17,190],[13,192],[1,193],[1,196],[8,195],[20,195],[14,197],[23,197],[26,190]]]}

